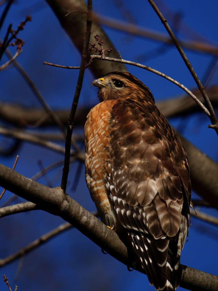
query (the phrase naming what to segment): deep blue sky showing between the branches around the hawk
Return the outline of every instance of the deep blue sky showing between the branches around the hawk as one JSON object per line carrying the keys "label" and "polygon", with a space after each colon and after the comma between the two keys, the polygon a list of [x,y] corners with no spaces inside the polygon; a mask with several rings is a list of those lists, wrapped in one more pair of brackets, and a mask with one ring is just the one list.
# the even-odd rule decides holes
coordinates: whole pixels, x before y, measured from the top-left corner
{"label": "deep blue sky showing between the branches around the hawk", "polygon": [[[159,18],[147,1],[123,1],[124,6],[118,7],[119,1],[93,0],[93,10],[102,15],[122,21],[129,21],[151,30],[165,33]],[[169,19],[175,13],[182,15],[178,36],[182,39],[199,40],[201,35],[205,41],[217,45],[217,9],[218,2],[211,1],[166,1],[160,10]],[[171,12],[169,12],[170,8]],[[0,7],[0,12],[3,6]],[[5,36],[8,24],[13,28],[29,14],[33,17],[20,33],[25,40],[22,54],[18,61],[33,79],[45,100],[53,109],[70,108],[78,78],[78,70],[64,70],[42,65],[43,61],[62,65],[79,65],[80,55],[66,33],[60,27],[56,16],[45,1],[17,0],[12,5],[3,28],[1,38]],[[130,15],[130,16],[129,16]],[[112,42],[119,49],[124,59],[141,62],[180,81],[188,88],[194,88],[195,83],[188,72],[181,56],[173,47],[165,50],[159,42],[138,36],[123,33],[104,27]],[[91,40],[94,42],[94,40]],[[156,49],[164,48],[164,53],[156,54]],[[205,71],[213,60],[208,54],[185,50],[197,75],[203,79]],[[5,62],[3,58],[2,63]],[[214,60],[216,62],[216,60]],[[98,100],[96,88],[90,89],[93,76],[89,69],[85,72],[84,84],[81,91],[79,106],[95,105]],[[153,92],[156,101],[183,94],[183,91],[169,81],[140,68],[128,66],[128,70],[141,79]],[[215,71],[209,85],[217,84],[218,72]],[[99,76],[101,77],[101,76]],[[1,101],[39,107],[33,93],[15,68],[8,68],[1,72]],[[194,145],[218,162],[217,135],[214,130],[208,129],[210,120],[203,111],[191,116],[171,118],[170,123],[178,128],[185,125],[183,135]],[[33,128],[29,128],[33,129]],[[37,129],[36,129],[37,130]],[[45,128],[48,132],[51,128]],[[81,133],[82,129],[75,129]],[[10,139],[0,137],[0,146],[3,148]],[[82,148],[82,144],[81,144]],[[31,178],[40,168],[38,160],[43,166],[63,159],[63,155],[41,148],[37,145],[22,143],[13,156],[0,156],[0,162],[12,167],[16,155],[19,161],[16,171]],[[203,165],[202,165],[203,166]],[[95,210],[84,179],[84,167],[76,191],[72,190],[74,174],[77,164],[72,164],[69,173],[67,193],[89,211]],[[215,173],[217,174],[217,173]],[[62,166],[48,173],[53,187],[60,185]],[[47,185],[47,180],[41,178],[38,182]],[[2,203],[9,197],[6,192]],[[196,195],[193,194],[196,198]],[[17,198],[15,203],[22,202]],[[216,210],[201,207],[202,211],[218,216]],[[59,217],[51,216],[42,211],[28,212],[1,219],[0,257],[4,258],[19,248],[30,243],[40,235],[48,232],[63,223]],[[217,274],[217,228],[208,223],[192,219],[192,227],[188,242],[181,255],[181,263],[200,269],[204,272]],[[12,290],[19,261],[1,268],[0,290],[7,290],[3,282],[3,274],[10,279]],[[2,279],[1,279],[2,278]],[[82,235],[78,230],[68,230],[47,244],[41,246],[24,257],[18,281],[18,290],[155,290],[149,285],[147,277],[137,271],[128,272],[126,266],[117,262],[110,255],[101,253],[101,249]],[[178,288],[178,290],[182,290]]]}

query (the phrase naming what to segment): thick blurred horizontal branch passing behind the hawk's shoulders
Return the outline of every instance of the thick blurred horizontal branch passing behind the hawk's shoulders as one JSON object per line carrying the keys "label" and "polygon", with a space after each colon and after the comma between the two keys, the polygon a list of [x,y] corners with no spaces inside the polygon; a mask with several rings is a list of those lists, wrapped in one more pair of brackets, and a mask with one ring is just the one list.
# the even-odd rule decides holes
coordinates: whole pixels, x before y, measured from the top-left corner
{"label": "thick blurred horizontal branch passing behind the hawk's shoulders", "polygon": [[[193,89],[194,95],[205,105],[203,97],[198,89]],[[208,97],[214,107],[218,106],[218,86],[212,86],[207,89]],[[183,114],[191,114],[193,112],[199,112],[201,108],[198,106],[193,99],[188,95],[180,95],[171,97],[164,101],[156,102],[157,107],[163,113],[165,117],[178,116]],[[75,125],[85,125],[86,116],[89,113],[91,107],[78,108],[74,118]],[[54,110],[55,114],[61,120],[63,124],[67,124],[69,109],[66,110]],[[5,103],[0,101],[0,116],[2,120],[5,120],[12,124],[23,123],[28,125],[34,125],[38,120],[45,116],[45,111],[43,109],[35,109],[31,107],[23,107],[21,105],[14,105],[11,103]],[[43,120],[42,125],[54,125],[53,120],[47,116]]]}

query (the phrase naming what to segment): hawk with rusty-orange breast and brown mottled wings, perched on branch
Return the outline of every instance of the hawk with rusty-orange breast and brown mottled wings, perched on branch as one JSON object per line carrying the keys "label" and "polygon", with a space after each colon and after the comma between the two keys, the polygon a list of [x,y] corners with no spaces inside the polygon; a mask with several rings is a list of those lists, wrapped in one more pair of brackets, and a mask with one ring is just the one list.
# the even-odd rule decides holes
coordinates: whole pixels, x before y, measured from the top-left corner
{"label": "hawk with rusty-orange breast and brown mottled wings, perched on branch", "polygon": [[100,100],[85,124],[92,200],[101,221],[133,246],[133,267],[141,265],[156,290],[175,290],[191,203],[185,149],[135,76],[111,72],[92,85]]}

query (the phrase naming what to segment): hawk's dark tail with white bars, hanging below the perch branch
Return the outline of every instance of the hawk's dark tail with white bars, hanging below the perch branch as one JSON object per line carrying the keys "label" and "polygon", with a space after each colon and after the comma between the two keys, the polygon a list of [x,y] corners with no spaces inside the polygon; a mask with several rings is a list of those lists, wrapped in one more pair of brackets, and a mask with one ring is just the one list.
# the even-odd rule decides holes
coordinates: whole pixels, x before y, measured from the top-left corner
{"label": "hawk's dark tail with white bars, hanging below the perch branch", "polygon": [[140,260],[136,266],[140,264],[143,267],[150,284],[156,290],[174,291],[179,284],[180,263],[176,242],[168,238],[154,239],[139,232],[129,232],[128,236]]}

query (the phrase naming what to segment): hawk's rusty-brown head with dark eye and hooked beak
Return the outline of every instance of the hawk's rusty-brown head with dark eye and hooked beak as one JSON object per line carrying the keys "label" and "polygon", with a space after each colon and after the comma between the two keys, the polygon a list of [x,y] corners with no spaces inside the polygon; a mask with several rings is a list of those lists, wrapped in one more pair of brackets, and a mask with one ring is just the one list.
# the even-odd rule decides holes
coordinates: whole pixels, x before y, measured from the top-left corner
{"label": "hawk's rusty-brown head with dark eye and hooked beak", "polygon": [[111,72],[104,77],[95,79],[92,85],[99,87],[100,102],[105,100],[125,100],[136,98],[154,103],[154,97],[147,86],[128,72]]}

